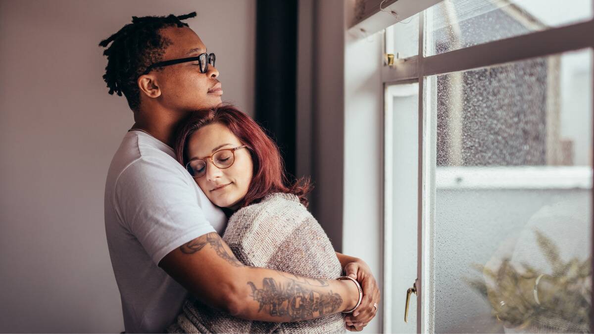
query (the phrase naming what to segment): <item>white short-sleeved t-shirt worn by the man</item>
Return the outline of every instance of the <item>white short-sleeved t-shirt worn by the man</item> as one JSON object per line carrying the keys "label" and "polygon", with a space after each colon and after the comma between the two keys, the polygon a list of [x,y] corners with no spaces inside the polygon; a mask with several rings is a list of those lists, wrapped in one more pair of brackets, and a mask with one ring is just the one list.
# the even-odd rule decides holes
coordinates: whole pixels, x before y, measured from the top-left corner
{"label": "white short-sleeved t-shirt worn by the man", "polygon": [[159,261],[226,222],[171,147],[141,131],[124,136],[105,185],[105,231],[127,333],[164,332],[175,320],[188,291]]}

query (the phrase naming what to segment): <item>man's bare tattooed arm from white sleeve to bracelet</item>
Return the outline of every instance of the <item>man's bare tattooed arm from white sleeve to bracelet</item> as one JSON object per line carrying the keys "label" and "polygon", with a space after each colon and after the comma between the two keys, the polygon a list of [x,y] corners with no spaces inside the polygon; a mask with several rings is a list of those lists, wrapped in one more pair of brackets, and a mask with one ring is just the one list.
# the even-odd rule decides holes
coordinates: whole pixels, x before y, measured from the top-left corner
{"label": "man's bare tattooed arm from white sleeve to bracelet", "polygon": [[317,319],[350,310],[359,298],[350,281],[244,266],[216,233],[176,248],[159,266],[204,304],[247,320]]}

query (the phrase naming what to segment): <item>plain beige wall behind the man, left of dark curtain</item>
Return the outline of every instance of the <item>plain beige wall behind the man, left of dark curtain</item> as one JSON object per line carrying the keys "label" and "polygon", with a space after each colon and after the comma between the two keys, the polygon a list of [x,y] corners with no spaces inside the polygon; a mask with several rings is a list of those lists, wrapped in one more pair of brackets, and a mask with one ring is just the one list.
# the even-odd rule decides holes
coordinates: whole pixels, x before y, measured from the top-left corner
{"label": "plain beige wall behind the man, left of dark curtain", "polygon": [[0,332],[124,330],[103,187],[132,113],[97,44],[190,11],[223,99],[252,114],[255,1],[0,1]]}

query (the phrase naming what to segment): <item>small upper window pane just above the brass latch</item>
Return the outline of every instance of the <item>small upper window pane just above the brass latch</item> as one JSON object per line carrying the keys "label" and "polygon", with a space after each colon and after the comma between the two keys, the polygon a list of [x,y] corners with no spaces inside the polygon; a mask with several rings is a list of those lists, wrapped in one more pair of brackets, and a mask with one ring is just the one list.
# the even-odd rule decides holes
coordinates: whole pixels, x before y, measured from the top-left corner
{"label": "small upper window pane just above the brass latch", "polygon": [[386,53],[400,59],[419,54],[419,14],[386,28]]}

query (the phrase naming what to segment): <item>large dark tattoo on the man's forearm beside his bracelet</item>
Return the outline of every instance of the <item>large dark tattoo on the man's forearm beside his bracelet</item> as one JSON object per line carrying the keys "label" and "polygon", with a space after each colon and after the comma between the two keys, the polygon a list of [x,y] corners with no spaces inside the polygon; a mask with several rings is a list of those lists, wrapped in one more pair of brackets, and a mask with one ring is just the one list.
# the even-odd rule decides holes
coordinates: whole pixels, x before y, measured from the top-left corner
{"label": "large dark tattoo on the man's forearm beside his bracelet", "polygon": [[263,288],[252,288],[252,298],[260,303],[258,312],[266,309],[273,317],[289,317],[290,321],[308,320],[336,313],[342,305],[342,297],[332,291],[327,294],[314,291],[309,286],[290,279],[286,283],[264,278]]}

